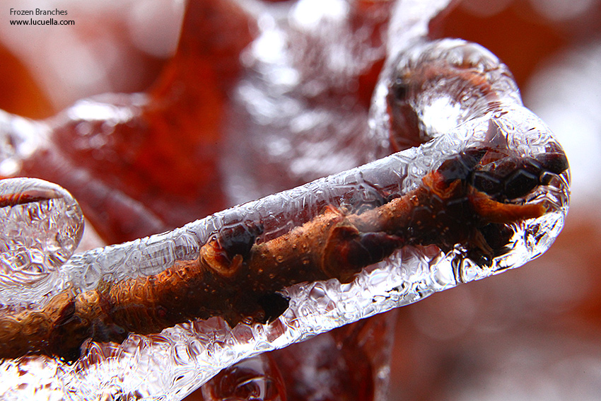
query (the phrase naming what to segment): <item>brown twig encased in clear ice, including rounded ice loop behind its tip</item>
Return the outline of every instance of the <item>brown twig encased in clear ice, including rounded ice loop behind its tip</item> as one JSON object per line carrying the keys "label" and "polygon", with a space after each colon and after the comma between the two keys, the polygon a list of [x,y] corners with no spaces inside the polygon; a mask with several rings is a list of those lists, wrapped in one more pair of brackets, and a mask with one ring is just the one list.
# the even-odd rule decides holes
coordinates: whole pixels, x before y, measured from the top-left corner
{"label": "brown twig encased in clear ice, including rounded ice loop behind its tip", "polygon": [[55,187],[11,182],[2,266],[16,281],[0,282],[0,393],[46,380],[81,400],[180,399],[247,356],[544,252],[568,209],[561,146],[490,52],[404,42],[370,110],[379,159],[361,167],[122,245],[69,257],[73,244],[58,241],[63,259],[41,255],[55,263],[35,279],[20,227],[54,221],[59,199],[71,220],[50,237],[71,238],[81,215]]}

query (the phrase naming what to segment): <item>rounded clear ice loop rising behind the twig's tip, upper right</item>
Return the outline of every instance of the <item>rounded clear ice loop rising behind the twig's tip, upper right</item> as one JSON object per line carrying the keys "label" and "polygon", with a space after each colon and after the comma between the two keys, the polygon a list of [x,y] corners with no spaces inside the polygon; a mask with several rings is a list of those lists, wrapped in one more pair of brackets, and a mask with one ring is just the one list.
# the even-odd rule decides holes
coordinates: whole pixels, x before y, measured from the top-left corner
{"label": "rounded clear ice loop rising behind the twig's tip, upper right", "polygon": [[373,157],[421,144],[462,122],[503,107],[522,107],[507,66],[475,43],[414,40],[387,59],[370,122],[380,144]]}

